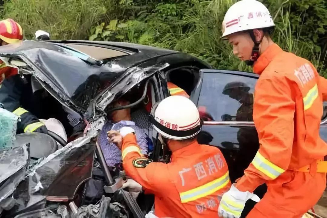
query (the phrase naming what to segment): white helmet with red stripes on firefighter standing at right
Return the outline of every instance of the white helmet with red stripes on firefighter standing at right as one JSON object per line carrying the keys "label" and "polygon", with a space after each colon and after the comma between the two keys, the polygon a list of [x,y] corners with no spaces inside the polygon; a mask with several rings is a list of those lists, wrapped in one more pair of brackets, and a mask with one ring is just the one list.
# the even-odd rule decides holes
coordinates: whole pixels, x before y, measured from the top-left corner
{"label": "white helmet with red stripes on firefighter standing at right", "polygon": [[221,25],[222,39],[232,33],[250,29],[274,27],[269,10],[256,0],[241,0],[233,4],[225,14]]}

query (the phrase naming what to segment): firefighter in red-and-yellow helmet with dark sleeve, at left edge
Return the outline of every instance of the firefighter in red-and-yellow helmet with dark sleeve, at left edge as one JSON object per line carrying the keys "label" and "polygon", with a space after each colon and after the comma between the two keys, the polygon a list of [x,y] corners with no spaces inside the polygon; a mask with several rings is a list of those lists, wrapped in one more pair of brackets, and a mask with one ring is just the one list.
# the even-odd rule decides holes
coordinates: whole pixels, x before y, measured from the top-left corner
{"label": "firefighter in red-and-yellow helmet with dark sleeve, at left edge", "polygon": [[[23,41],[22,27],[12,19],[0,21],[0,42],[1,45],[20,43]],[[6,66],[0,61],[0,102],[3,107],[20,117],[17,124],[17,133],[42,132],[47,129],[33,114],[21,107],[23,102],[29,99],[26,97],[28,84],[18,74],[18,69]]]}

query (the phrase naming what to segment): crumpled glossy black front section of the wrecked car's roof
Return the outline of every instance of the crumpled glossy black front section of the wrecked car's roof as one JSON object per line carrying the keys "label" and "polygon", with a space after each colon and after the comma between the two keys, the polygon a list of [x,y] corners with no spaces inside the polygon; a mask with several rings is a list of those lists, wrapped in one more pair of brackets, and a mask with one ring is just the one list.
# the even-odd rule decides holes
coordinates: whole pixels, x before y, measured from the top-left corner
{"label": "crumpled glossy black front section of the wrecked car's roof", "polygon": [[[94,115],[96,99],[102,102],[100,108],[104,108],[103,102],[110,103],[115,93],[126,93],[154,73],[149,72],[150,68],[122,69],[110,63],[91,65],[55,43],[35,41],[0,46],[0,58],[7,65],[21,69],[20,72],[30,72],[54,97],[76,112],[90,111],[89,116]],[[119,85],[120,82],[129,83]],[[108,92],[112,88],[114,93]],[[103,95],[110,100],[105,100]]]}

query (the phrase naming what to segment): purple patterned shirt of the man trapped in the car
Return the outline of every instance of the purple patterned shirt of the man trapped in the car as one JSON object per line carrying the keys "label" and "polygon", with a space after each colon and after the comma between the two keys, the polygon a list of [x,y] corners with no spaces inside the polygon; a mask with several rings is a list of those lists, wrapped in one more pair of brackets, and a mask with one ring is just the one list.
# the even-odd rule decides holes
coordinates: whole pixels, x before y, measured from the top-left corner
{"label": "purple patterned shirt of the man trapped in the car", "polygon": [[133,121],[123,120],[115,124],[109,121],[103,126],[98,138],[102,153],[108,166],[114,167],[116,164],[119,164],[122,161],[122,153],[115,144],[109,143],[107,132],[109,130],[119,131],[124,126],[129,126],[135,130],[136,140],[141,148],[141,154],[147,154],[147,135],[145,130],[136,126]]}

